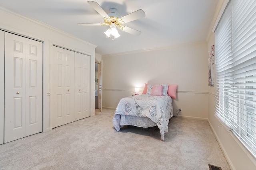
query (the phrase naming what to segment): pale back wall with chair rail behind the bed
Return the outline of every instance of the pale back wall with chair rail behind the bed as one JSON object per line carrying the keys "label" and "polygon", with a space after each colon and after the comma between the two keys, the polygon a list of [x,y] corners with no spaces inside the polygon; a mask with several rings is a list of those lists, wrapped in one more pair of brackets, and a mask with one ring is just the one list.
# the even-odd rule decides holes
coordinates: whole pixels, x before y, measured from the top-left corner
{"label": "pale back wall with chair rail behind the bed", "polygon": [[174,111],[181,116],[208,118],[207,43],[104,55],[103,107],[116,108],[119,100],[134,94],[144,83],[177,84]]}

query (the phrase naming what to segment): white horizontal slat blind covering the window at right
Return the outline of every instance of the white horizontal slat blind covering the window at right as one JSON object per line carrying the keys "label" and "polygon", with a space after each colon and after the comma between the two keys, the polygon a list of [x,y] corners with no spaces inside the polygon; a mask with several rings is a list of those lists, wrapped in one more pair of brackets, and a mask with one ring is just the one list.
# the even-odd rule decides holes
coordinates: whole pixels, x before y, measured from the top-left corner
{"label": "white horizontal slat blind covering the window at right", "polygon": [[216,115],[256,158],[256,1],[230,0],[215,36]]}

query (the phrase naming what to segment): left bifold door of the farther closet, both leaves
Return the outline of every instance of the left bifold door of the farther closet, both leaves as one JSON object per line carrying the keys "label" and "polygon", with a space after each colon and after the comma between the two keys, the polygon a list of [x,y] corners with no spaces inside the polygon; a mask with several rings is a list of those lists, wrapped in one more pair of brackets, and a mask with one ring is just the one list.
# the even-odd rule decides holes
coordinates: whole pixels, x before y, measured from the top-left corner
{"label": "left bifold door of the farther closet, both leaves", "polygon": [[51,56],[53,127],[74,121],[74,51],[53,46]]}

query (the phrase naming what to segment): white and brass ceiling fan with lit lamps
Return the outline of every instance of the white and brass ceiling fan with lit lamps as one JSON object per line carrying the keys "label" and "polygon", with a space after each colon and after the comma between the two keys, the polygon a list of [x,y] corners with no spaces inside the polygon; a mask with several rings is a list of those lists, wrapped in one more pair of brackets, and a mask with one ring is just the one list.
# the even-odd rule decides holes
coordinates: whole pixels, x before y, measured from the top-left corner
{"label": "white and brass ceiling fan with lit lamps", "polygon": [[120,17],[118,14],[116,14],[117,10],[115,8],[110,8],[110,13],[107,14],[97,2],[88,1],[88,4],[90,4],[90,6],[92,6],[92,8],[94,8],[94,10],[96,10],[104,18],[105,23],[78,23],[77,25],[82,25],[82,26],[109,25],[110,27],[104,33],[108,38],[110,38],[112,35],[112,40],[120,36],[116,27],[132,35],[140,35],[141,33],[140,31],[127,27],[123,24],[145,17],[145,12],[143,10],[140,9],[130,14],[127,14],[126,16]]}

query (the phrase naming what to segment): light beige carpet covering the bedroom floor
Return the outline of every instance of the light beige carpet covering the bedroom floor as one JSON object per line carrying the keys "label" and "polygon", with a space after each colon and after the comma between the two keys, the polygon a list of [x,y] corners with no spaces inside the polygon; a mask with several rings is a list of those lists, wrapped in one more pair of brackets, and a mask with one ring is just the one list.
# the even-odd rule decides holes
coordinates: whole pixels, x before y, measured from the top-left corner
{"label": "light beige carpet covering the bedroom floor", "polygon": [[0,145],[1,170],[230,170],[207,121],[172,117],[159,129],[112,126],[113,109]]}

